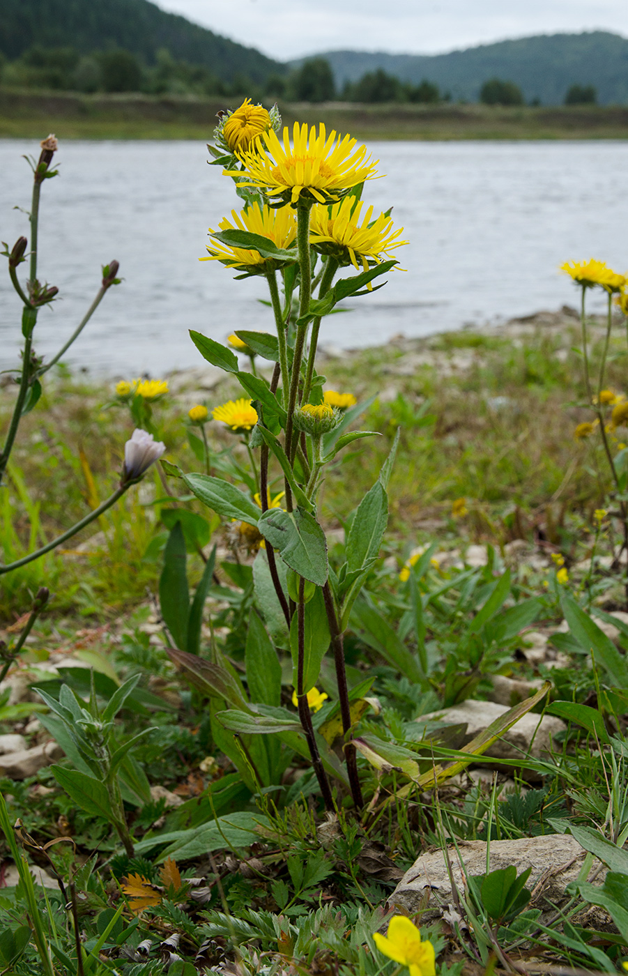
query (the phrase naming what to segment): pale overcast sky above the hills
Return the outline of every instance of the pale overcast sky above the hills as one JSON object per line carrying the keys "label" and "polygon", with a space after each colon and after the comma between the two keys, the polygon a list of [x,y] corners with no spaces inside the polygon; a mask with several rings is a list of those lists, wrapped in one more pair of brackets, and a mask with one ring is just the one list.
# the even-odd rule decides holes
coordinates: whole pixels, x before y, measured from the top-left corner
{"label": "pale overcast sky above the hills", "polygon": [[322,51],[437,54],[601,28],[628,36],[628,0],[159,0],[278,61]]}

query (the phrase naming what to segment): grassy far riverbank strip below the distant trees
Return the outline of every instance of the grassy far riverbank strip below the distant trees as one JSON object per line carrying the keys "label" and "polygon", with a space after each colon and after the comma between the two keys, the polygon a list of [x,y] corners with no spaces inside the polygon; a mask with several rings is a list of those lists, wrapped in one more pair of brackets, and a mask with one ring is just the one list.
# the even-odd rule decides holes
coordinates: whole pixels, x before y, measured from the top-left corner
{"label": "grassy far riverbank strip below the distant trees", "polygon": [[[81,95],[0,88],[0,138],[203,140],[216,112],[238,99]],[[361,140],[626,140],[628,105],[279,104],[284,121],[351,133]]]}

